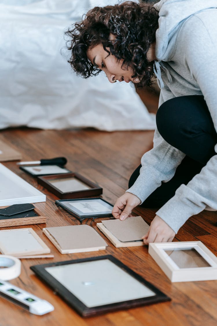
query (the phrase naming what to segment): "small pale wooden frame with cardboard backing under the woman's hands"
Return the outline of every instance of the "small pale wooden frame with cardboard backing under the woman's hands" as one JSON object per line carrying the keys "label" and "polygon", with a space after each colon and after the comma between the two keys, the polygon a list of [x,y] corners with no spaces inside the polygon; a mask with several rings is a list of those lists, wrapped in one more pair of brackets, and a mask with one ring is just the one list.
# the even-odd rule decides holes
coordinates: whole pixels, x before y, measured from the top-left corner
{"label": "small pale wooden frame with cardboard backing under the woman's hands", "polygon": [[128,217],[124,221],[104,220],[97,223],[97,227],[116,248],[144,245],[141,239],[149,229],[149,225],[141,216]]}

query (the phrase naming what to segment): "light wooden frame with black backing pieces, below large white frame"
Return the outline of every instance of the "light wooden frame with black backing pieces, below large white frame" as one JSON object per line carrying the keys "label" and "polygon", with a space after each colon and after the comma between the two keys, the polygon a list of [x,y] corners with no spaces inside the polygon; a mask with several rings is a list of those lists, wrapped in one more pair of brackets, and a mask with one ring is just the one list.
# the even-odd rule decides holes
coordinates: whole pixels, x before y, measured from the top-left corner
{"label": "light wooden frame with black backing pieces, below large white frame", "polygon": [[[25,209],[26,205],[29,205],[28,210]],[[0,209],[0,211],[2,212],[2,211],[4,211],[4,209],[8,209],[8,208],[14,207],[14,206],[20,206],[20,205],[12,205],[9,207],[2,207]],[[23,204],[22,207],[23,207],[23,210],[20,209],[17,212],[13,212],[13,214],[7,214],[7,215],[0,214],[0,228],[46,223],[46,216],[43,216],[43,214],[41,214],[38,209],[35,209],[34,205]]]}

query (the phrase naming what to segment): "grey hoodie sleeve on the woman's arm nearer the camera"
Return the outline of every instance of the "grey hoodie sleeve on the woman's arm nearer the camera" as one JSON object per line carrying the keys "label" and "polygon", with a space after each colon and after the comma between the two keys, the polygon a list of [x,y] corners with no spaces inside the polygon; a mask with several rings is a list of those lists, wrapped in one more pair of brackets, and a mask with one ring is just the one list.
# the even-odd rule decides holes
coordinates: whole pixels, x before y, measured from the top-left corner
{"label": "grey hoodie sleeve on the woman's arm nearer the camera", "polygon": [[[199,15],[189,22],[191,26],[186,24],[180,36],[183,36],[180,41],[183,39],[185,62],[201,89],[217,130],[217,31]],[[217,155],[187,185],[181,185],[156,214],[177,232],[190,216],[204,209],[217,210]]]}

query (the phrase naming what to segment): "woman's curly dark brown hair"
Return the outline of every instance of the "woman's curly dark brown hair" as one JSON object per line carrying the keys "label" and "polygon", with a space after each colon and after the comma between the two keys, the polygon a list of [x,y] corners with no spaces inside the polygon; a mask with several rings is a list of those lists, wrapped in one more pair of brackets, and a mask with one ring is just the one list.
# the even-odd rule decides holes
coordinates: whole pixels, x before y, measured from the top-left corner
{"label": "woman's curly dark brown hair", "polygon": [[[146,53],[156,40],[158,18],[158,11],[147,3],[126,1],[95,7],[65,32],[67,49],[71,52],[68,62],[77,75],[84,78],[98,75],[101,69],[90,62],[87,51],[102,44],[108,54],[112,53],[117,60],[123,59],[122,68],[133,69],[132,78],[141,78],[137,87],[151,86],[153,62],[147,60]],[[110,33],[115,40],[109,40]]]}

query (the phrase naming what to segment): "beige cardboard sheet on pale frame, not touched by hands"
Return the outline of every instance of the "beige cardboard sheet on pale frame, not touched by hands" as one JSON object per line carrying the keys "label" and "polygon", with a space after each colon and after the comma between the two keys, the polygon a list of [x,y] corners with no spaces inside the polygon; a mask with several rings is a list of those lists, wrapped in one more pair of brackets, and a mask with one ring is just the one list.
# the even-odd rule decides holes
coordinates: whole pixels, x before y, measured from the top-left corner
{"label": "beige cardboard sheet on pale frame, not touched by hands", "polygon": [[62,250],[107,246],[102,237],[89,225],[69,225],[46,228]]}

